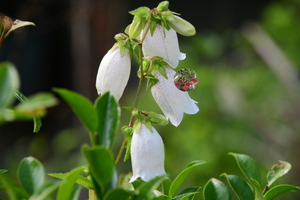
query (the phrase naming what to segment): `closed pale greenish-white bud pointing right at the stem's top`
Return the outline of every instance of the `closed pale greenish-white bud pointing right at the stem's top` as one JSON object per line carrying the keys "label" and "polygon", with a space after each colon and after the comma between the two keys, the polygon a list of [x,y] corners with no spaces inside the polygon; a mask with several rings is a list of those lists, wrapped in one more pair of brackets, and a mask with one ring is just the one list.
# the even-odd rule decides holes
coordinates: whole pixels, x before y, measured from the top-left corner
{"label": "closed pale greenish-white bud pointing right at the stem's top", "polygon": [[193,36],[196,34],[195,27],[188,21],[173,15],[174,20],[168,20],[169,26],[174,29],[177,33],[183,36]]}

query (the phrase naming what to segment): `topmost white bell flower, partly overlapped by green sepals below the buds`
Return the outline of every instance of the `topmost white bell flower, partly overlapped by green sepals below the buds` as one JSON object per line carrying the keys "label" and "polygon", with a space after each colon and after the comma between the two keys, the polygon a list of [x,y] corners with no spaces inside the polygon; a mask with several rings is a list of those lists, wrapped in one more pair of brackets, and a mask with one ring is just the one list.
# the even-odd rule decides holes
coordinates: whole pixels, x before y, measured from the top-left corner
{"label": "topmost white bell flower, partly overlapped by green sepals below the buds", "polygon": [[156,27],[152,36],[148,31],[143,42],[143,54],[145,57],[162,57],[172,68],[178,66],[179,60],[185,59],[185,54],[179,50],[176,31],[173,29],[163,30],[160,25]]}

